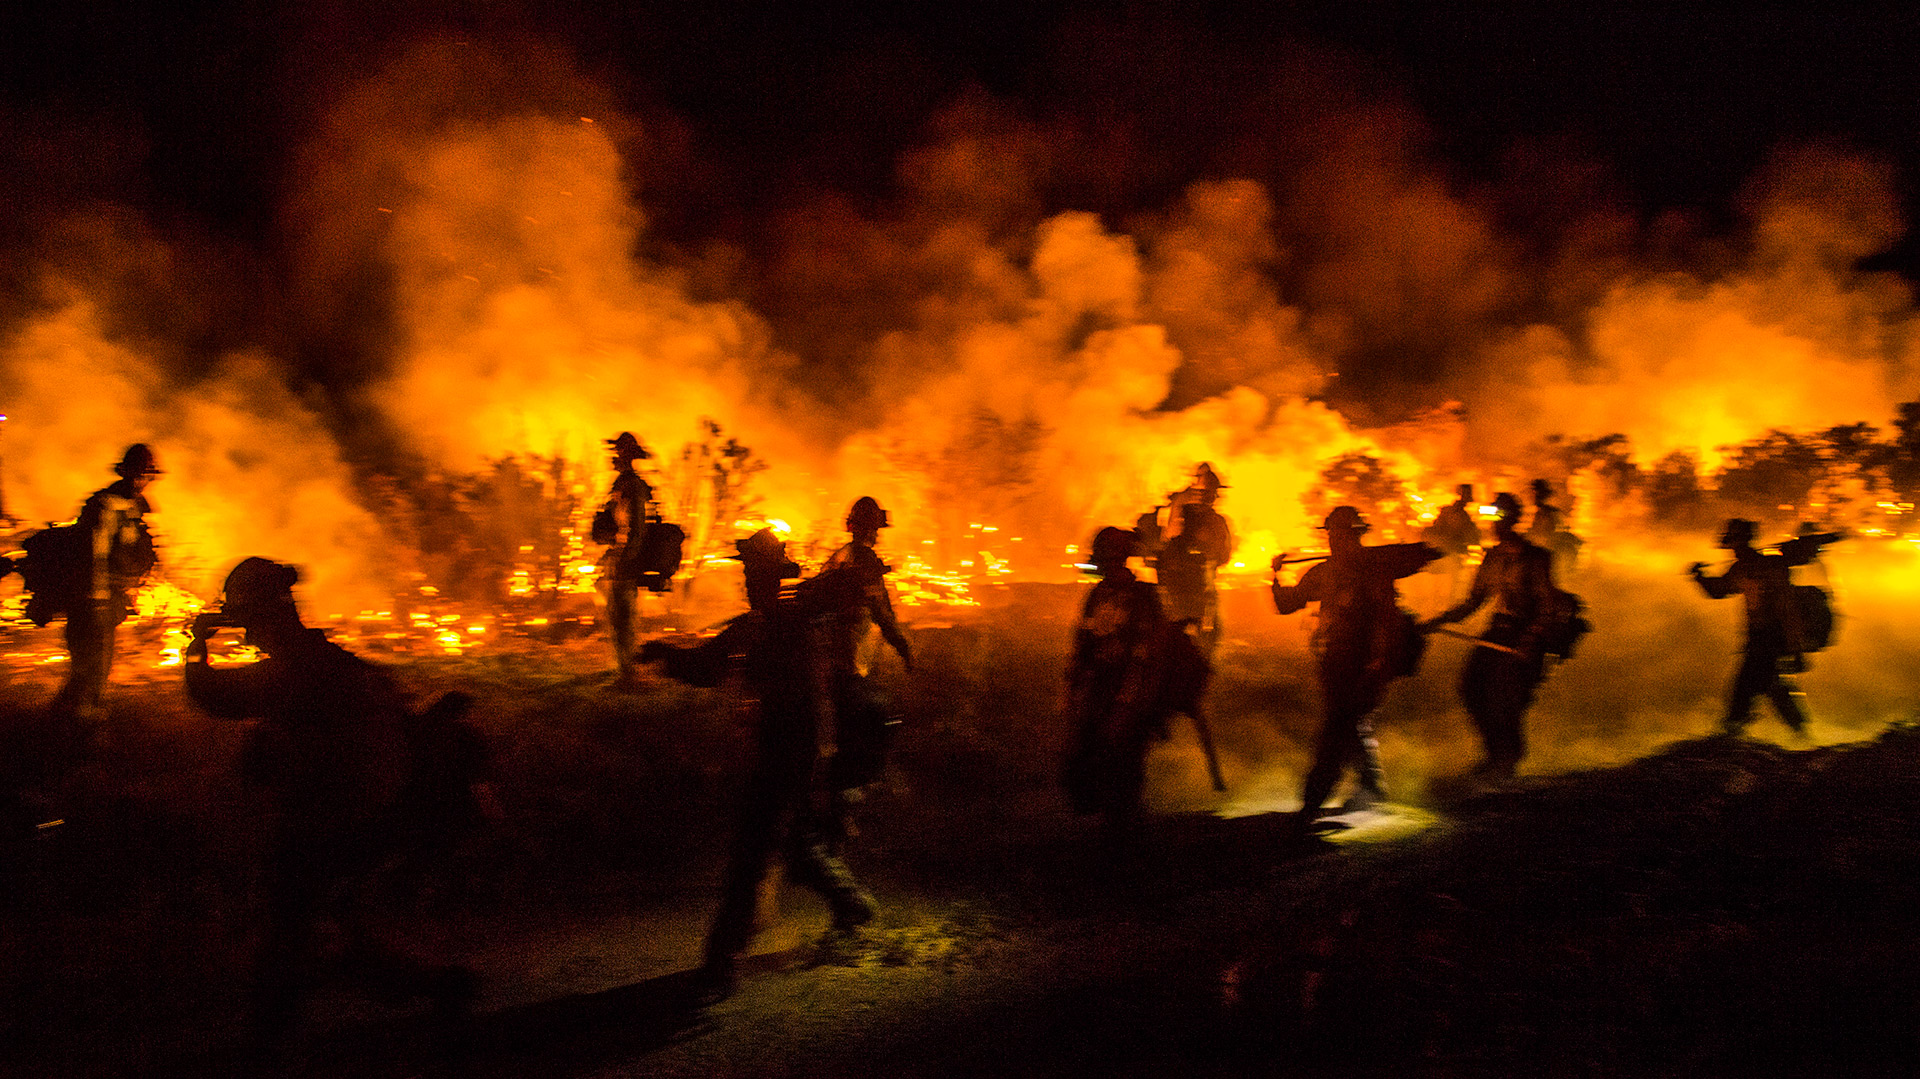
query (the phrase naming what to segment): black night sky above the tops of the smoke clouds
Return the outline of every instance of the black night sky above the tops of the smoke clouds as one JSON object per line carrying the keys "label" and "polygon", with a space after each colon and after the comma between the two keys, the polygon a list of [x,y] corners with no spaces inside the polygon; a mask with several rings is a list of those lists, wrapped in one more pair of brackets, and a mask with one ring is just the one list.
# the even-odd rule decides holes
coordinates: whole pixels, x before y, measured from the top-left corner
{"label": "black night sky above the tops of the smoke clouds", "polygon": [[[1313,42],[1400,86],[1467,171],[1515,138],[1572,138],[1647,207],[1715,211],[1782,138],[1839,138],[1920,165],[1920,12],[1715,4],[13,4],[15,113],[144,134],[138,198],[242,234],[315,90],[422,27],[564,42],[632,102],[685,117],[730,173],[883,184],[916,123],[968,83],[1062,115],[1098,108],[1064,54],[1079,27],[1208,54]],[[1167,77],[1167,75],[1162,75]],[[824,161],[820,146],[864,150]],[[864,157],[864,159],[849,159]],[[125,177],[121,177],[125,179]],[[1910,180],[1908,180],[1910,182]]]}

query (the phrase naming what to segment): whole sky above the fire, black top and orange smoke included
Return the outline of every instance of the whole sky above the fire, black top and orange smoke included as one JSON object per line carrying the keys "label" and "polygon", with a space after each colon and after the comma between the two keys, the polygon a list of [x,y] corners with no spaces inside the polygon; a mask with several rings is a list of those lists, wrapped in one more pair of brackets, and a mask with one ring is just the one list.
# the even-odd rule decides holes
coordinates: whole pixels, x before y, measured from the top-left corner
{"label": "whole sky above the fire, black top and orange smoke included", "polygon": [[1920,396],[1920,15],[545,8],[10,6],[8,509],[152,440],[182,559],[346,589],[367,468],[714,417],[799,520],[1069,541],[1208,459],[1271,547],[1344,451]]}

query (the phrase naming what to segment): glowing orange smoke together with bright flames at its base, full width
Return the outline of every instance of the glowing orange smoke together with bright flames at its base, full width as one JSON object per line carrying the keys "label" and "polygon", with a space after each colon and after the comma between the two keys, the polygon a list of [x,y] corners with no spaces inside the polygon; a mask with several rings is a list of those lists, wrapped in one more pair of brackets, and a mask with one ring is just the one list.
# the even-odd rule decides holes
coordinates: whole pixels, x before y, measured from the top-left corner
{"label": "glowing orange smoke together with bright flames at its base, full width", "polygon": [[[649,474],[687,503],[678,513],[720,513],[697,484],[674,490],[701,419],[768,465],[755,503],[689,551],[689,576],[730,574],[728,543],[760,524],[818,563],[851,499],[872,493],[914,607],[1071,580],[1075,545],[1164,505],[1200,461],[1231,486],[1235,568],[1258,576],[1319,541],[1309,503],[1342,455],[1379,461],[1402,490],[1377,509],[1375,540],[1411,540],[1455,482],[1482,499],[1523,490],[1526,447],[1549,434],[1619,432],[1640,463],[1688,449],[1711,468],[1770,428],[1885,422],[1914,396],[1910,298],[1853,269],[1899,230],[1882,207],[1897,204],[1891,179],[1837,156],[1784,157],[1757,184],[1743,259],[1559,267],[1605,286],[1557,326],[1509,324],[1503,305],[1536,269],[1423,171],[1417,125],[1390,109],[1329,119],[1325,154],[1284,198],[1250,179],[1196,182],[1119,228],[1073,209],[1021,217],[1044,132],[956,108],[900,163],[900,209],[806,217],[822,253],[791,273],[866,275],[893,296],[856,319],[866,338],[828,355],[776,342],[747,290],[728,288],[714,267],[741,252],[653,242],[653,177],[637,173],[657,159],[632,154],[651,132],[591,88],[543,98],[563,108],[468,109],[463,84],[513,84],[501,71],[516,67],[428,42],[342,94],[296,169],[303,309],[351,321],[349,282],[374,278],[394,313],[388,367],[355,399],[323,399],[286,357],[182,365],[119,328],[129,298],[113,286],[46,269],[46,303],[0,342],[8,511],[69,518],[146,440],[167,474],[152,490],[163,576],[144,618],[179,620],[230,564],[265,555],[300,564],[309,612],[355,639],[463,653],[591,620],[599,549],[584,536],[609,482],[603,440],[620,430],[657,453]],[[117,221],[88,230],[102,261],[186,257]],[[1288,250],[1284,230],[1317,246]],[[845,252],[858,257],[835,261]],[[1413,420],[1365,428],[1323,399],[1356,340],[1394,328],[1423,344],[1423,326],[1471,344],[1428,399],[1377,403]],[[438,474],[568,461],[580,505],[559,555],[522,549],[497,611],[428,593],[403,522],[371,509],[336,440],[344,415],[376,415]],[[1597,486],[1572,478],[1580,528],[1603,524]],[[534,612],[541,597],[572,607]],[[163,662],[177,651],[169,637]]]}

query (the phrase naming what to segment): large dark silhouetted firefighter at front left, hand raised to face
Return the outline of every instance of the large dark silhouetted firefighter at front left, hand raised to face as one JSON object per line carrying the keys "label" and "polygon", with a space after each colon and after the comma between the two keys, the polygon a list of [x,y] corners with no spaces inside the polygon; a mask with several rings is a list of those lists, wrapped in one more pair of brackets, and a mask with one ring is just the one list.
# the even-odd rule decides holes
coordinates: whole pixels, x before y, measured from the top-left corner
{"label": "large dark silhouetted firefighter at front left, hand raised to face", "polygon": [[[444,1016],[459,1014],[474,996],[474,975],[422,958],[405,943],[413,933],[386,925],[392,904],[380,895],[380,872],[444,839],[426,831],[459,816],[447,810],[449,785],[468,808],[497,814],[472,772],[476,760],[424,760],[430,747],[463,741],[434,730],[453,722],[444,710],[417,720],[384,670],[301,622],[298,576],[288,564],[242,561],[227,576],[221,607],[194,620],[182,657],[186,693],[202,710],[259,720],[242,772],[273,803],[269,923],[253,985],[261,1048],[278,1048],[321,981],[319,923],[328,914],[344,937],[344,973],[376,996],[426,996]],[[211,666],[207,639],[221,626],[246,630],[265,659]]]}

